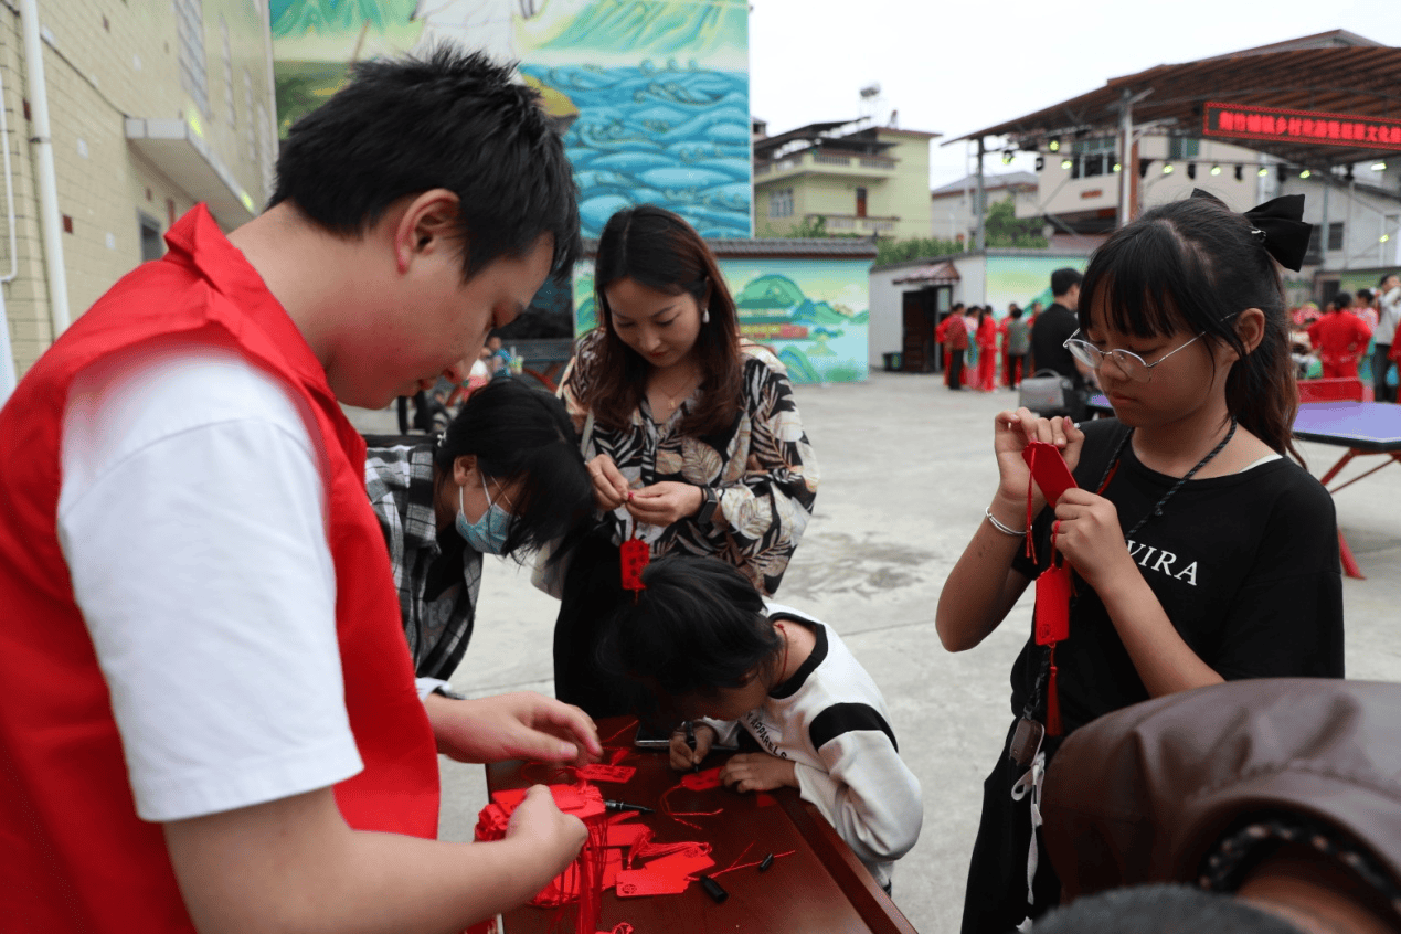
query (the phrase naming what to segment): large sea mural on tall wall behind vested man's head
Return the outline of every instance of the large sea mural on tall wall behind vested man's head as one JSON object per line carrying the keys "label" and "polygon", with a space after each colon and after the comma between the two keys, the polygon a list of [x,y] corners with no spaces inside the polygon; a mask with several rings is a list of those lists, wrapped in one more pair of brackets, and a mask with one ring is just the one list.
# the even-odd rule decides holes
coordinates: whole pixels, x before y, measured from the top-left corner
{"label": "large sea mural on tall wall behind vested man's head", "polygon": [[705,237],[750,237],[747,0],[272,0],[277,122],[353,62],[440,42],[516,62],[563,133],[586,237],[661,204]]}

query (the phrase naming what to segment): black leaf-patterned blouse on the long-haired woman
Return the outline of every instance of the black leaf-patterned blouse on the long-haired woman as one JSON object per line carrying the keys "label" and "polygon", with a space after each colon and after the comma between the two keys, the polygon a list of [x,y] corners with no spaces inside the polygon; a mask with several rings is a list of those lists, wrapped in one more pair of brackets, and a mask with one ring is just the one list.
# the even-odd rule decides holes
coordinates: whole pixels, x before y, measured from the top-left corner
{"label": "black leaf-patterned blouse on the long-haired woman", "polygon": [[[586,393],[584,374],[601,339],[601,332],[586,335],[560,378],[560,396],[576,431],[583,431],[588,414],[579,399]],[[688,517],[665,528],[635,529],[628,510],[619,507],[611,514],[614,542],[640,534],[653,557],[672,552],[719,557],[744,571],[764,595],[771,595],[813,515],[818,468],[783,364],[755,344],[741,344],[740,353],[744,410],[727,430],[706,437],[681,435],[675,428],[696,396],[682,402],[664,424],[651,420],[643,396],[626,430],[594,424],[584,458],[607,454],[633,490],[663,480],[713,487],[720,504],[710,527]],[[576,367],[580,360],[586,365]]]}

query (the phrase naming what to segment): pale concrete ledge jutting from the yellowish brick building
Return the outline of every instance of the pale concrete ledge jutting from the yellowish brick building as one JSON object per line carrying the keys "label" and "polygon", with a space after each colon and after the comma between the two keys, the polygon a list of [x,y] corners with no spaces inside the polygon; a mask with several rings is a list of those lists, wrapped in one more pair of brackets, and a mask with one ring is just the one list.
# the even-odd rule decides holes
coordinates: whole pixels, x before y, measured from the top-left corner
{"label": "pale concrete ledge jutting from the yellowish brick building", "polygon": [[207,203],[226,230],[258,214],[259,206],[196,126],[170,118],[126,118],[126,141],[191,197]]}

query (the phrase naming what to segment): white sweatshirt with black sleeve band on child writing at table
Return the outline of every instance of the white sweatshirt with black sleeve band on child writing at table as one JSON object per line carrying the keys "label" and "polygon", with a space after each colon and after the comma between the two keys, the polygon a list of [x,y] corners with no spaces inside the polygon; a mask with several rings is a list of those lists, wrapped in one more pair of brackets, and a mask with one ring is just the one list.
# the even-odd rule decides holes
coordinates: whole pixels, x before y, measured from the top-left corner
{"label": "white sweatshirt with black sleeve band on child writing at table", "polygon": [[738,721],[706,721],[733,742],[743,725],[769,755],[790,759],[799,794],[814,804],[883,886],[923,823],[919,780],[899,758],[885,699],[841,637],[789,606],[769,619],[807,626],[817,647],[764,706]]}

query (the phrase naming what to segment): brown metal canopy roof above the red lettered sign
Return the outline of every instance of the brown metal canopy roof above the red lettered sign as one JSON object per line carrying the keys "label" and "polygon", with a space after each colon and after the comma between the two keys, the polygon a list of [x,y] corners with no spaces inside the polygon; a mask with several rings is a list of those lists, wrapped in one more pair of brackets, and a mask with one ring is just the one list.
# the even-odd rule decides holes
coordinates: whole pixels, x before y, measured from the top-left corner
{"label": "brown metal canopy roof above the red lettered sign", "polygon": [[[1160,64],[1111,78],[1089,94],[958,139],[1007,136],[1021,148],[1038,150],[1051,137],[1065,141],[1103,133],[1118,127],[1125,91],[1131,95],[1147,92],[1133,104],[1136,126],[1159,123],[1184,136],[1202,136],[1202,111],[1208,102],[1401,119],[1401,49],[1376,45],[1338,29],[1198,62]],[[1316,167],[1360,162],[1379,153],[1394,153],[1363,144],[1223,141],[1268,153],[1286,162]]]}

